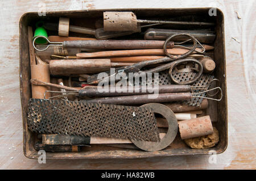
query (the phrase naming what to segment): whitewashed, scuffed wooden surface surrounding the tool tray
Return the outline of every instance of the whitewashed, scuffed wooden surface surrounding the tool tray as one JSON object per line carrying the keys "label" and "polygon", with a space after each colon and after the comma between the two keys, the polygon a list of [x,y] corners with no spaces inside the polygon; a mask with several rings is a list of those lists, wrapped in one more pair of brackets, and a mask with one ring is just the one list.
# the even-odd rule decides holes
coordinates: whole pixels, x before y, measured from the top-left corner
{"label": "whitewashed, scuffed wooden surface surrounding the tool tray", "polygon": [[[50,161],[39,164],[23,155],[19,93],[19,18],[25,12],[218,7],[225,16],[229,145],[216,155],[127,160]],[[256,169],[256,1],[0,1],[0,169]],[[238,19],[236,11],[241,16]],[[234,39],[233,39],[233,38]],[[237,41],[236,41],[237,40]]]}

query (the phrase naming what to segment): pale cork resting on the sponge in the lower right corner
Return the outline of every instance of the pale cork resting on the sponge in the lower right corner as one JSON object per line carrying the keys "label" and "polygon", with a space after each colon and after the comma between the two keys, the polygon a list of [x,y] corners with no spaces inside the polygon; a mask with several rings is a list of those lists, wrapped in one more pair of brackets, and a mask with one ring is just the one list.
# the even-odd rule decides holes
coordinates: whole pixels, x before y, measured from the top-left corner
{"label": "pale cork resting on the sponge in the lower right corner", "polygon": [[191,120],[179,121],[179,131],[182,140],[205,136],[213,133],[210,116],[197,117]]}

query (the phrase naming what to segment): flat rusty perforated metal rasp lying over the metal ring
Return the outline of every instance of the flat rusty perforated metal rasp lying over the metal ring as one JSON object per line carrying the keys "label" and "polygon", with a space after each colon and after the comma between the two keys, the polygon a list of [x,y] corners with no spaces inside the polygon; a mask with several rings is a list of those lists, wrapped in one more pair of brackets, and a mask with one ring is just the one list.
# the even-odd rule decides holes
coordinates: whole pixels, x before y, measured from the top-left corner
{"label": "flat rusty perforated metal rasp lying over the metal ring", "polygon": [[143,107],[30,99],[27,125],[42,134],[160,141],[154,112]]}

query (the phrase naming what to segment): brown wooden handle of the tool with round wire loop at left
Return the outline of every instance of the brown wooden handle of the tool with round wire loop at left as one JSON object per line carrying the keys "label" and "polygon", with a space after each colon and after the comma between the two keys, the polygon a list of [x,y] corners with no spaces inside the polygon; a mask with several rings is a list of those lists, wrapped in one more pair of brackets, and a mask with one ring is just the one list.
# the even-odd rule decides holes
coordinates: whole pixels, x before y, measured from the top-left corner
{"label": "brown wooden handle of the tool with round wire loop at left", "polygon": [[[68,48],[91,49],[151,49],[162,48],[164,41],[158,40],[79,40],[64,41],[63,46]],[[174,47],[174,42],[168,43],[168,48]]]}

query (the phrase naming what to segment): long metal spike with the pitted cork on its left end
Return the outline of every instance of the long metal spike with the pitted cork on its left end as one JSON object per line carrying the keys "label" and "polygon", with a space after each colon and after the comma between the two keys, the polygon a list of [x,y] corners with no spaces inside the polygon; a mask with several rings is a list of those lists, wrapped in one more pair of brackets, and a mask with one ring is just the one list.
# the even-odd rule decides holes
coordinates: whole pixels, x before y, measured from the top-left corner
{"label": "long metal spike with the pitted cork on its left end", "polygon": [[137,16],[130,11],[106,11],[103,13],[103,19],[105,31],[136,31],[139,23],[214,26],[214,23],[208,22],[177,22],[168,20],[137,19]]}

